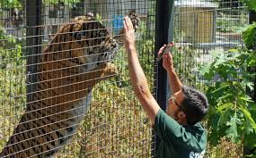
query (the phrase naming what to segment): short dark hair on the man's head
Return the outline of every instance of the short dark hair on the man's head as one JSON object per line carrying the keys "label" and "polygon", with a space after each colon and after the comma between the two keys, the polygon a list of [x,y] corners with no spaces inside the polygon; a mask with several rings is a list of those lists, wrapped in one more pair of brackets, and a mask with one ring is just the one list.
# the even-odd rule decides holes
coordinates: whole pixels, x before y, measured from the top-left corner
{"label": "short dark hair on the man's head", "polygon": [[199,92],[199,90],[188,86],[181,87],[181,91],[184,94],[184,100],[181,105],[185,109],[187,122],[189,125],[194,125],[207,114],[207,96]]}

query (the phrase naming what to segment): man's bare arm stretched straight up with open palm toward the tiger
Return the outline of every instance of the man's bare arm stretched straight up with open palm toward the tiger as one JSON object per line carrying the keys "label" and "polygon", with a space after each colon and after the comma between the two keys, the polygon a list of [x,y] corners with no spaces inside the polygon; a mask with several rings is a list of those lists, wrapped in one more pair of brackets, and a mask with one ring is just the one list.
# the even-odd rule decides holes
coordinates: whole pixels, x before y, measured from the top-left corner
{"label": "man's bare arm stretched straight up with open palm toward the tiger", "polygon": [[128,17],[125,17],[124,21],[124,44],[128,52],[128,70],[132,87],[151,123],[154,124],[154,119],[160,106],[157,104],[154,96],[149,90],[145,73],[138,61],[134,29]]}

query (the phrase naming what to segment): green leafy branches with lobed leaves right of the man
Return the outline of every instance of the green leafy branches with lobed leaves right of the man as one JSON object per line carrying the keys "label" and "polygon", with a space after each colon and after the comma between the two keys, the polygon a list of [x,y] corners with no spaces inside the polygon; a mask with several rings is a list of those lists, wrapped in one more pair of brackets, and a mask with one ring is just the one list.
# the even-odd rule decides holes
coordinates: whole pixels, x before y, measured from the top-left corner
{"label": "green leafy branches with lobed leaves right of the man", "polygon": [[[255,0],[243,2],[256,9]],[[216,54],[214,61],[203,65],[200,72],[208,86],[210,144],[216,145],[227,137],[252,149],[256,146],[256,104],[248,92],[256,90],[256,23],[243,30],[242,35],[246,47]]]}

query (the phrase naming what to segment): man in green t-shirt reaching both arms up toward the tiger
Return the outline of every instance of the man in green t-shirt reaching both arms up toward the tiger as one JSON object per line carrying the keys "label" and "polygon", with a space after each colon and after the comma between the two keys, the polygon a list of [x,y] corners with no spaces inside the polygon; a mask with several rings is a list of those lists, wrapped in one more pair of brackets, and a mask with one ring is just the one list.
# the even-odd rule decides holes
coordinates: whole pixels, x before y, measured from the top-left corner
{"label": "man in green t-shirt reaching both arms up toward the tiger", "polygon": [[200,121],[207,113],[207,97],[192,87],[182,85],[174,71],[172,54],[169,52],[163,56],[163,68],[168,72],[173,95],[166,112],[163,112],[149,91],[146,76],[138,61],[132,23],[128,17],[125,17],[123,23],[132,87],[160,137],[156,157],[203,157],[207,148],[207,134]]}

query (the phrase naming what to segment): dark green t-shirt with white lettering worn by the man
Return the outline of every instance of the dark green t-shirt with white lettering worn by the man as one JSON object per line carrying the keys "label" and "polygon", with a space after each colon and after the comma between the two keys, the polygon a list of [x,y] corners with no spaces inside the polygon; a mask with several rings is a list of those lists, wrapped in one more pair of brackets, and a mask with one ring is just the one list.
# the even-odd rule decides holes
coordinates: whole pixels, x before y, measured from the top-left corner
{"label": "dark green t-shirt with white lettering worn by the man", "polygon": [[207,132],[201,122],[182,126],[160,109],[154,130],[160,141],[157,158],[201,158],[206,152]]}

